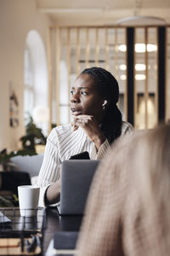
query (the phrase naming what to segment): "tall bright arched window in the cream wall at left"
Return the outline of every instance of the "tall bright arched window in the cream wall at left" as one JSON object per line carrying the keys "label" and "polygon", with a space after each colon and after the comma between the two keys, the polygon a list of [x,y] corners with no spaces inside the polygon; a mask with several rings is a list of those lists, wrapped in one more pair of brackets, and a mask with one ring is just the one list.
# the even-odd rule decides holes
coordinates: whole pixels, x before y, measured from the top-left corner
{"label": "tall bright arched window in the cream wall at left", "polygon": [[[37,127],[48,135],[48,66],[42,38],[35,30],[26,37],[24,59],[24,116],[34,119]],[[39,118],[39,112],[43,119]],[[38,113],[37,113],[38,112]]]}

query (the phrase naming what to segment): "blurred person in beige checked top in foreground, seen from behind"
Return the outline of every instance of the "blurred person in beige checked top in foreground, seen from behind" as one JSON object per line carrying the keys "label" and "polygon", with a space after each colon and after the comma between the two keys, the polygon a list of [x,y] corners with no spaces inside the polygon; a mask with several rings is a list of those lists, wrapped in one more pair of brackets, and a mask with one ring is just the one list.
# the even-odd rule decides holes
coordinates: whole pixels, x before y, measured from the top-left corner
{"label": "blurred person in beige checked top in foreground, seen from behind", "polygon": [[120,138],[94,177],[78,256],[170,255],[169,195],[170,125]]}

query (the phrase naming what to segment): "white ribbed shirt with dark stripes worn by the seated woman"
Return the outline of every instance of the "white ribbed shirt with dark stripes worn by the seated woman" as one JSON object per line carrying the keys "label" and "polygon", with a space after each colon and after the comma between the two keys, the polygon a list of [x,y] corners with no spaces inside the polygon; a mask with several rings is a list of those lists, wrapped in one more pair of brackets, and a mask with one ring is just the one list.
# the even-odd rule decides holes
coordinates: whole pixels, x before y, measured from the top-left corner
{"label": "white ribbed shirt with dark stripes worn by the seated woman", "polygon": [[[122,135],[133,131],[133,126],[122,122]],[[54,128],[47,139],[47,144],[39,172],[37,185],[40,186],[39,206],[44,207],[44,194],[48,186],[59,179],[59,165],[63,160],[69,160],[72,155],[88,151],[90,159],[102,159],[110,149],[107,140],[96,151],[94,143],[87,137],[81,127],[73,131],[71,125],[62,125]]]}

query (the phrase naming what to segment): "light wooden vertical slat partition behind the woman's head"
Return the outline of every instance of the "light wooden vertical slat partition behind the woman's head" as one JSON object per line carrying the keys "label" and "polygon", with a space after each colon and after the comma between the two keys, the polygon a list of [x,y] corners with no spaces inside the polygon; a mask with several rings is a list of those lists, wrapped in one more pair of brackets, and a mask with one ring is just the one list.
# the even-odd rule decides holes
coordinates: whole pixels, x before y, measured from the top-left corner
{"label": "light wooden vertical slat partition behind the woman's head", "polygon": [[[147,44],[149,42],[148,40],[148,33],[149,33],[149,28],[150,27],[156,27],[156,26],[136,26],[135,27],[135,30],[138,29],[138,28],[144,28],[144,44],[145,46],[147,47]],[[170,27],[170,26],[165,26],[165,27]],[[60,51],[61,51],[61,47],[62,47],[62,44],[63,42],[61,41],[61,31],[62,29],[66,29],[66,33],[67,33],[67,36],[66,36],[66,48],[67,48],[67,52],[66,52],[66,58],[67,58],[67,61],[66,61],[66,65],[67,65],[67,68],[68,68],[68,102],[70,102],[70,84],[71,84],[71,75],[72,75],[72,68],[71,68],[71,30],[72,29],[76,29],[76,38],[75,38],[75,45],[74,47],[76,47],[76,56],[75,56],[75,63],[73,63],[73,65],[75,65],[75,75],[79,74],[81,72],[81,64],[80,64],[80,61],[81,61],[81,49],[82,49],[82,44],[81,44],[81,30],[82,29],[85,29],[86,31],[86,35],[85,35],[85,59],[82,60],[82,62],[85,61],[85,67],[91,67],[91,63],[89,62],[89,60],[91,61],[91,56],[90,56],[90,50],[91,50],[91,45],[90,45],[90,40],[89,40],[89,32],[90,32],[90,28],[93,28],[94,30],[94,38],[95,38],[95,52],[94,52],[94,63],[93,65],[99,67],[99,49],[100,49],[100,42],[99,42],[99,33],[101,31],[101,28],[105,30],[105,69],[107,70],[110,70],[110,62],[111,62],[111,58],[110,58],[110,45],[109,45],[109,29],[112,29],[114,32],[115,32],[115,37],[113,39],[113,42],[112,44],[115,46],[115,55],[113,56],[113,61],[115,63],[115,73],[116,73],[116,79],[119,80],[119,77],[118,77],[118,74],[120,72],[118,72],[118,57],[119,57],[119,52],[118,52],[118,49],[117,49],[117,46],[118,46],[118,42],[117,42],[117,34],[119,32],[119,30],[122,30],[124,29],[125,30],[125,33],[126,31],[129,29],[129,27],[125,26],[125,27],[120,27],[120,26],[63,26],[63,27],[50,27],[49,30],[48,30],[48,102],[49,102],[49,119],[50,119],[50,124],[52,122],[52,85],[54,86],[55,84],[55,91],[56,91],[56,95],[55,95],[55,98],[56,98],[56,123],[57,125],[60,124],[60,117],[59,117],[59,87],[61,86],[59,84],[59,74],[60,74],[60,69],[59,69],[59,63],[61,61],[61,55],[60,55]],[[157,30],[159,30],[159,27],[157,28]],[[56,33],[56,44],[55,44],[55,53],[54,53],[54,49],[53,49],[53,43],[52,43],[52,32],[55,32]],[[167,33],[167,29],[166,29],[166,33]],[[159,35],[158,35],[159,36]],[[130,38],[129,38],[130,39]],[[134,40],[135,41],[135,40]],[[160,41],[159,41],[160,42]],[[158,43],[158,40],[157,40],[157,43]],[[84,44],[84,43],[83,43]],[[127,42],[125,42],[125,44],[127,45]],[[161,42],[160,42],[161,44]],[[166,45],[167,45],[167,41],[166,41]],[[84,47],[84,46],[83,46]],[[167,51],[165,49],[165,53],[166,53],[166,60],[167,60]],[[52,55],[56,55],[56,70],[54,70],[53,68],[53,61],[52,61]],[[161,54],[161,51],[160,51],[160,54]],[[129,57],[129,56],[128,56]],[[133,69],[134,69],[134,65],[135,65],[135,54],[133,53],[133,59],[134,59],[134,63],[133,63]],[[148,79],[148,66],[149,66],[149,55],[148,55],[148,52],[147,50],[145,50],[144,52],[144,64],[145,64],[145,71],[144,71],[144,74],[145,74],[145,81],[144,81],[144,104],[145,104],[145,118],[144,118],[144,123],[145,123],[145,128],[148,127],[148,124],[149,124],[149,121],[148,121],[148,99],[149,99],[149,79]],[[130,69],[128,68],[129,66],[129,63],[128,63],[128,60],[127,60],[127,55],[124,59],[124,62],[127,64],[127,78],[128,78],[128,74],[130,72]],[[158,62],[157,62],[158,64]],[[167,65],[165,63],[165,68],[166,68],[166,71],[167,71]],[[162,67],[161,67],[162,69]],[[163,69],[162,69],[163,70]],[[110,70],[111,71],[111,70]],[[167,74],[165,71],[165,75]],[[54,75],[53,73],[56,73],[56,81],[53,82],[53,79],[54,79]],[[158,71],[157,71],[158,73]],[[126,86],[125,86],[125,90],[124,90],[124,113],[125,113],[125,119],[127,119],[127,117],[131,117],[131,119],[133,120],[134,122],[134,125],[136,124],[136,115],[137,115],[137,104],[138,104],[138,101],[137,101],[137,88],[136,88],[136,84],[135,84],[135,79],[134,79],[134,75],[135,73],[131,73],[131,77],[133,76],[133,86],[131,84],[131,81],[128,80],[128,84],[131,84],[129,86],[131,86],[131,90],[129,90],[129,88],[127,87],[127,81],[126,81]],[[119,80],[120,81],[120,80]],[[158,81],[157,81],[158,83]],[[165,82],[166,83],[166,82]],[[167,87],[166,87],[167,88]],[[161,90],[161,87],[159,88],[159,90]],[[167,89],[165,89],[166,91]],[[133,109],[133,113],[131,113],[129,115],[129,104],[128,104],[128,99],[129,99],[129,95],[127,96],[127,91],[128,91],[128,94],[134,94],[133,98],[132,96],[130,96],[131,98],[131,109]],[[166,92],[165,92],[166,93]],[[167,94],[166,94],[167,95]],[[127,98],[128,97],[128,98]],[[159,95],[158,95],[158,91],[156,89],[156,115],[158,115],[158,98],[159,98]],[[163,96],[162,96],[163,98]],[[166,99],[166,102],[168,102],[168,99],[167,99],[167,96],[165,96],[165,99]],[[165,100],[164,99],[164,100]],[[168,108],[168,104],[166,103],[166,106],[165,106],[165,114],[166,114],[166,109]],[[69,104],[68,104],[68,107],[69,107]],[[163,116],[163,113],[162,113],[162,116]],[[169,118],[167,115],[166,115],[166,119]],[[132,121],[130,120],[130,121]],[[70,121],[70,115],[69,115],[69,111],[68,111],[68,122]],[[49,125],[49,131],[51,129],[50,127],[51,125]]]}

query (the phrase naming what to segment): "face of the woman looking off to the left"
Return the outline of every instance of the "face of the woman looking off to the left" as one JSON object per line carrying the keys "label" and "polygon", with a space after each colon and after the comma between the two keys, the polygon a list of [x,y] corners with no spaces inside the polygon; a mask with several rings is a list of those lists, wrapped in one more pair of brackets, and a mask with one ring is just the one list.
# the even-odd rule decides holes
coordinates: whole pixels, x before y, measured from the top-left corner
{"label": "face of the woman looking off to the left", "polygon": [[104,98],[99,95],[93,77],[84,73],[78,76],[71,88],[71,113],[93,115],[98,123],[103,118]]}

